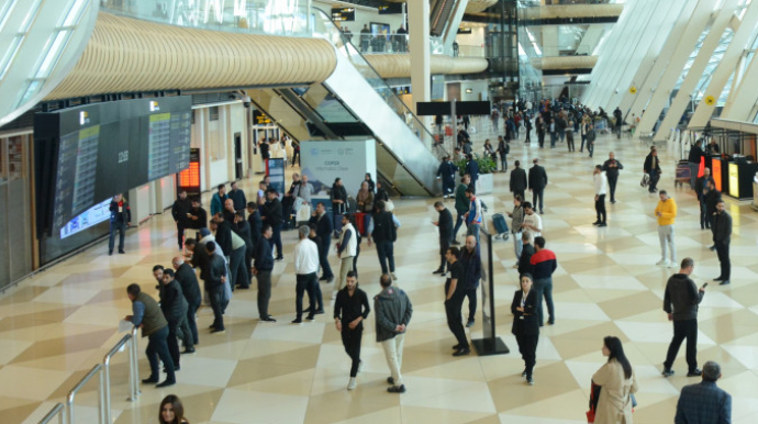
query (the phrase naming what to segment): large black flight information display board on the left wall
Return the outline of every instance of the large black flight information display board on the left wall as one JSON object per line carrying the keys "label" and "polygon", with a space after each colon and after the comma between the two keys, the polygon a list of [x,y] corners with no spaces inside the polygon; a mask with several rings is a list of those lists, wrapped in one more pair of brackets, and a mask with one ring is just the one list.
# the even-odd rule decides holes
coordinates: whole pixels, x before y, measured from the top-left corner
{"label": "large black flight information display board on the left wall", "polygon": [[57,234],[103,199],[187,169],[191,107],[191,97],[180,96],[35,114],[38,235]]}

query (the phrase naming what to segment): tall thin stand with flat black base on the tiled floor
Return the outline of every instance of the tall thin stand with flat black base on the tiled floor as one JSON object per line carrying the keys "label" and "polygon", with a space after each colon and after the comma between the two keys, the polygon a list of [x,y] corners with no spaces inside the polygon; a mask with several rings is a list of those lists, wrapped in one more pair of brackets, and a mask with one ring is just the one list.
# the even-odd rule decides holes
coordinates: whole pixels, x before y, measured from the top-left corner
{"label": "tall thin stand with flat black base on the tiled floor", "polygon": [[[482,246],[484,245],[484,246]],[[486,252],[484,252],[486,250]],[[511,350],[494,331],[494,277],[492,274],[492,235],[484,228],[479,230],[479,255],[481,269],[481,324],[483,337],[471,339],[473,349],[479,356],[503,355]]]}

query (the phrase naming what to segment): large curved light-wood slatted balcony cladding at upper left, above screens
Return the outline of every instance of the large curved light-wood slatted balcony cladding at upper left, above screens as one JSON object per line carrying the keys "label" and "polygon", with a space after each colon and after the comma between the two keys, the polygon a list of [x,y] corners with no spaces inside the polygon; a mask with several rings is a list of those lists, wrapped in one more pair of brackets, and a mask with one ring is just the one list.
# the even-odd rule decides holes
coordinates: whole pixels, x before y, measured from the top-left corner
{"label": "large curved light-wood slatted balcony cladding at upper left, above screens", "polygon": [[320,38],[185,29],[100,13],[71,72],[45,99],[325,80],[336,52]]}

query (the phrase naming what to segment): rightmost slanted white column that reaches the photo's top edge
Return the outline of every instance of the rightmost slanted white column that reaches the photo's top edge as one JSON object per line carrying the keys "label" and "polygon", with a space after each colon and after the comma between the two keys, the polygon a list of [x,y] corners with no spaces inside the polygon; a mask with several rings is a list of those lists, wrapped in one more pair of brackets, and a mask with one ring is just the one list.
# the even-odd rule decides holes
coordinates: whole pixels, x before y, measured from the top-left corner
{"label": "rightmost slanted white column that reaches the photo's top edge", "polygon": [[682,113],[687,109],[687,104],[691,101],[691,94],[693,94],[695,88],[698,88],[698,82],[700,82],[703,76],[703,70],[705,70],[713,52],[718,46],[724,31],[728,27],[734,16],[734,11],[737,9],[737,0],[725,0],[722,4],[716,20],[711,25],[711,31],[703,41],[698,57],[695,57],[692,67],[690,67],[690,70],[687,72],[687,77],[679,88],[679,93],[677,93],[677,97],[671,102],[671,107],[669,107],[664,122],[661,122],[659,131],[656,133],[656,141],[662,141],[668,136],[670,130],[677,126]]}

